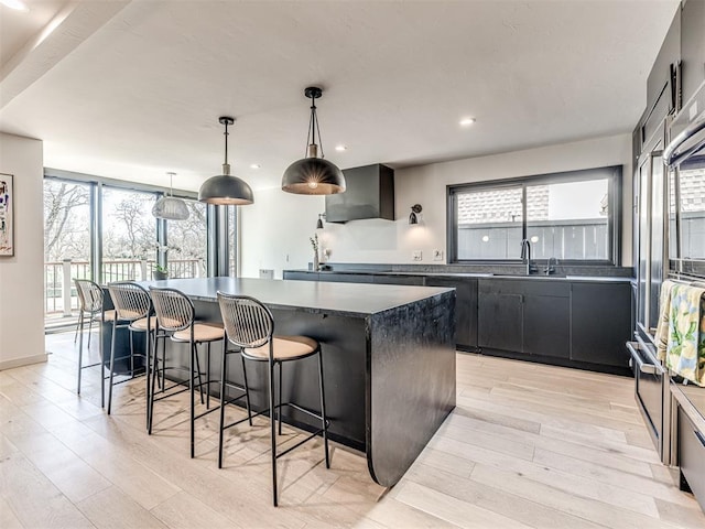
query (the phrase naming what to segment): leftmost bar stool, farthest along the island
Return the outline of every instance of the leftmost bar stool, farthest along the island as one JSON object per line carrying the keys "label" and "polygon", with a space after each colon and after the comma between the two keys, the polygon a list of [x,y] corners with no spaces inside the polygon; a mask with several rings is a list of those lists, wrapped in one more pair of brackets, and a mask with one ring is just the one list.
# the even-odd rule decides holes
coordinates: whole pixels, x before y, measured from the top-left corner
{"label": "leftmost bar stool, farthest along the island", "polygon": [[[89,279],[74,279],[76,284],[76,293],[78,294],[78,323],[76,331],[80,330],[80,341],[78,342],[78,386],[76,392],[80,395],[80,373],[89,367],[102,366],[105,364],[102,357],[102,323],[111,322],[115,320],[115,311],[105,311],[102,307],[104,292],[98,283],[90,281]],[[100,343],[98,344],[98,350],[100,354],[100,361],[96,364],[83,365],[84,356],[84,325],[88,319],[88,348],[90,349],[90,334],[93,331],[94,322],[98,323],[98,335]],[[74,341],[75,343],[75,341]],[[100,407],[105,408],[105,377],[102,369],[100,371]]]}

